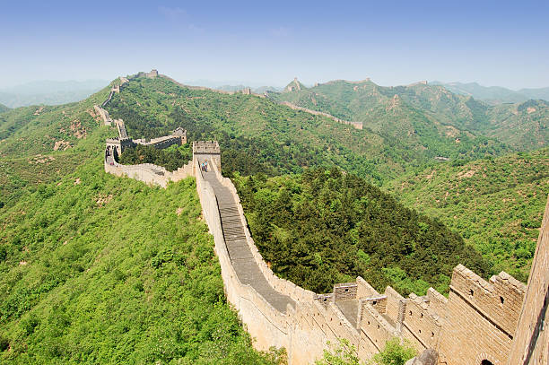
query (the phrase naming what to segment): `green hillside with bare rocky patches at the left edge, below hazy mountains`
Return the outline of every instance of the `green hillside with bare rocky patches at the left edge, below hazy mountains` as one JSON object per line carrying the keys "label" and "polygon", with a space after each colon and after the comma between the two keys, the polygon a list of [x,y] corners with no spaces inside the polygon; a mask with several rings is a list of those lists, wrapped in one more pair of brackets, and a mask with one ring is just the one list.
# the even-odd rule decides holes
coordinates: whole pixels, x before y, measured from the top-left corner
{"label": "green hillside with bare rocky patches at the left edge, below hazy mountains", "polygon": [[106,88],[73,104],[0,114],[0,206],[100,155],[104,138],[114,131],[99,127],[93,105],[108,95]]}

